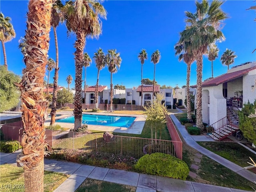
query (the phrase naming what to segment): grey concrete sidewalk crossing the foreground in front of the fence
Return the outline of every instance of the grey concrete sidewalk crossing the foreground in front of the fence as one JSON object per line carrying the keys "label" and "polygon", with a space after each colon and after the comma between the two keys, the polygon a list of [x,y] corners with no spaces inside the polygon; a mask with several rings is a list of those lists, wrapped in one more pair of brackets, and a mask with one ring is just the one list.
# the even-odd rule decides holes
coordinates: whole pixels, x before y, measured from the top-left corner
{"label": "grey concrete sidewalk crossing the foreground in front of the fence", "polygon": [[[16,164],[18,153],[0,153],[1,164]],[[74,192],[86,178],[136,187],[136,192],[246,192],[233,188],[44,159],[44,170],[71,174],[54,192]]]}

